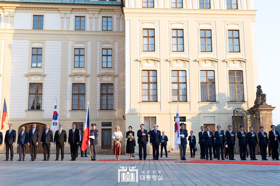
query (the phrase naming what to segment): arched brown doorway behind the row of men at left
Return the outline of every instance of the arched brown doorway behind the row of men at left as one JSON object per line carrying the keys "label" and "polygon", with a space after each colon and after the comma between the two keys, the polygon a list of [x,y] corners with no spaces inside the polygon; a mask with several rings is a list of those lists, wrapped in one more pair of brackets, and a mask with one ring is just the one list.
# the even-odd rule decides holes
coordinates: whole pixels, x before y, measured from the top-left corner
{"label": "arched brown doorway behind the row of men at left", "polygon": [[[19,128],[18,128],[18,133],[21,131],[21,128],[22,127],[25,127],[25,131],[29,132],[30,129],[32,129],[32,125],[33,123],[26,123],[24,125],[21,125]],[[37,145],[37,154],[40,154],[40,153],[43,153],[43,146],[41,145],[40,141],[41,141],[41,135],[42,135],[42,132],[43,130],[46,130],[46,125],[45,124],[42,124],[42,123],[36,123],[36,129],[39,130],[39,141],[38,141],[38,145]],[[18,134],[17,133],[17,134]],[[26,145],[26,150],[25,150],[25,153],[26,154],[30,154],[30,148],[28,145]],[[17,147],[17,153],[18,153],[18,147]]]}

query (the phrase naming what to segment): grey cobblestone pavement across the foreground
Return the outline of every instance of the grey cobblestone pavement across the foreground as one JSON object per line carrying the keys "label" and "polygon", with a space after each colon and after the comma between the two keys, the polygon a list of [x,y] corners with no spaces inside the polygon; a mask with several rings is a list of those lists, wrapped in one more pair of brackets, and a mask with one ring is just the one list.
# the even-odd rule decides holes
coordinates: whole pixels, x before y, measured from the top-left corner
{"label": "grey cobblestone pavement across the foreground", "polygon": [[[25,162],[17,162],[18,154],[14,154],[13,162],[4,162],[5,154],[0,154],[0,185],[280,185],[280,166],[276,165],[179,163],[173,160],[138,161],[137,155],[135,160],[127,160],[128,155],[121,155],[120,161],[89,161],[89,157],[78,157],[77,161],[73,162],[69,161],[70,154],[65,154],[64,161],[54,161],[55,154],[50,156],[50,161],[42,161],[43,154],[38,154],[36,162],[29,162],[28,154]],[[168,158],[160,159],[178,159],[178,156],[169,155]],[[97,160],[100,159],[115,159],[115,155],[98,154]],[[148,155],[147,159],[152,159],[152,155]],[[257,159],[258,162],[261,161],[260,155],[257,155]],[[272,162],[270,157],[268,159]],[[138,182],[118,183],[120,166],[126,166],[127,171],[129,167],[136,166]],[[147,175],[151,176],[150,180],[147,180]],[[156,180],[153,176],[157,177]],[[160,179],[158,176],[162,176],[162,180],[158,180]]]}

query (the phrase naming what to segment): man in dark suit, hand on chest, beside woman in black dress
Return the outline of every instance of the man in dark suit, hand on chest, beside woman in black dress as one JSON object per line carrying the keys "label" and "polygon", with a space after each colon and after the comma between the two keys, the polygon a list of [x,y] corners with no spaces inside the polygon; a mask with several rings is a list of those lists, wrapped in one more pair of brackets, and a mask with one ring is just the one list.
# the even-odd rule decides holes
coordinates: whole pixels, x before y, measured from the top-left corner
{"label": "man in dark suit, hand on chest, beside woman in black dress", "polygon": [[[149,142],[148,140],[148,132],[144,129],[144,125],[140,125],[140,130],[137,131],[137,143],[139,144],[139,160],[142,160],[142,157],[144,160],[146,160],[147,157],[147,144]],[[143,148],[143,154],[142,155],[142,148]]]}

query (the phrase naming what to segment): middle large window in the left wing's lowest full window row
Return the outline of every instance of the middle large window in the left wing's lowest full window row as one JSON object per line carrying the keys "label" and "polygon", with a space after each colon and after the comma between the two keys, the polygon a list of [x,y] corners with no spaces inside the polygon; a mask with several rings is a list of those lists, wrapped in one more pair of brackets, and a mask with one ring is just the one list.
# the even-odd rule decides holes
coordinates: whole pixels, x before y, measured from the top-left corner
{"label": "middle large window in the left wing's lowest full window row", "polygon": [[85,84],[72,84],[72,110],[85,110]]}

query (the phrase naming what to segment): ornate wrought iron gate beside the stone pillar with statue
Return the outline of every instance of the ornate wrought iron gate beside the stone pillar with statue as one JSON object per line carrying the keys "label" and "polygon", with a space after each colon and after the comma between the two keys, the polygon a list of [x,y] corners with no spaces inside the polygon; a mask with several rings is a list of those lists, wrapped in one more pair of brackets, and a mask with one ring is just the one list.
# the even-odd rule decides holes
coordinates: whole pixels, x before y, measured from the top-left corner
{"label": "ornate wrought iron gate beside the stone pillar with statue", "polygon": [[[237,132],[239,132],[239,127],[244,126],[244,131],[249,132],[249,128],[253,127],[254,132],[258,134],[258,117],[257,114],[251,114],[248,111],[245,111],[241,108],[236,108],[233,110],[233,130],[235,132],[235,135],[237,136]],[[235,153],[239,153],[239,145],[238,145],[238,139],[236,139],[235,144]],[[258,146],[256,147],[256,154],[259,154]],[[249,153],[250,154],[250,153]]]}

